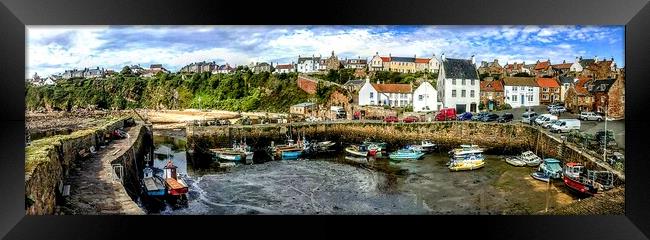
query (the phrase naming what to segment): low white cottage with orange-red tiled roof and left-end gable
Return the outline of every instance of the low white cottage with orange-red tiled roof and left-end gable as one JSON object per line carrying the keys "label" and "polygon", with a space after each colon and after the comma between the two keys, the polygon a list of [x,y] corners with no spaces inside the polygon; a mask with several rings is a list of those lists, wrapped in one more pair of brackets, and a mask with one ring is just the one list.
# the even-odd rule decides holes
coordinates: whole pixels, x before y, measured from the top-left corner
{"label": "low white cottage with orange-red tiled roof and left-end gable", "polygon": [[411,106],[412,92],[410,84],[372,84],[370,79],[366,78],[366,83],[359,90],[359,106]]}

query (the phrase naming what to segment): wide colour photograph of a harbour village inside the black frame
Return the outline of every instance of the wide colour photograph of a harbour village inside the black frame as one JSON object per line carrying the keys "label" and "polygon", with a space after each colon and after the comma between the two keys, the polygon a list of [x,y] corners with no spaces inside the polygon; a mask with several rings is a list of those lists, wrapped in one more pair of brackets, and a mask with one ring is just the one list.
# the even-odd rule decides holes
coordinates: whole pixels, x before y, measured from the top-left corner
{"label": "wide colour photograph of a harbour village inside the black frame", "polygon": [[26,26],[27,215],[623,215],[625,27]]}

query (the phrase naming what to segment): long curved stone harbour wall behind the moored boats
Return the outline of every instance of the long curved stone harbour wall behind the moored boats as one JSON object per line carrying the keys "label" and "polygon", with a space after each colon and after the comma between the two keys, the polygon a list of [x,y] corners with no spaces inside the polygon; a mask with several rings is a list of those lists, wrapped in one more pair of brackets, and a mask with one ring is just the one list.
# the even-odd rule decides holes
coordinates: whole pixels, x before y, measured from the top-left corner
{"label": "long curved stone harbour wall behind the moored boats", "polygon": [[[549,135],[536,127],[521,123],[501,124],[483,122],[430,122],[414,124],[386,124],[364,122],[295,123],[253,126],[211,126],[188,129],[188,143],[208,149],[229,146],[233,140],[246,139],[255,147],[265,147],[273,141],[283,144],[287,136],[296,140],[298,134],[307,139],[332,140],[343,143],[360,143],[366,139],[387,142],[390,146],[403,146],[429,139],[441,149],[451,149],[460,144],[477,144],[493,154],[519,154],[531,150],[542,158],[552,157],[562,161],[580,162],[590,169],[611,170],[605,164],[571,143]],[[200,151],[201,149],[196,149]],[[624,181],[623,173],[615,172]]]}

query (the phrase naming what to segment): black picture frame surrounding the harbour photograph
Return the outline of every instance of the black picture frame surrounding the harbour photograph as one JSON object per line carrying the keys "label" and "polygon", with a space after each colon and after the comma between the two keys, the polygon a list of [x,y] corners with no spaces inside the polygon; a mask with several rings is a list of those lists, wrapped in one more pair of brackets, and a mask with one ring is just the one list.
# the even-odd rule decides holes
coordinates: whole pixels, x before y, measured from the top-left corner
{"label": "black picture frame surrounding the harbour photograph", "polygon": [[[496,239],[648,239],[650,174],[643,140],[650,92],[650,5],[604,1],[98,1],[0,0],[0,236],[7,239],[237,235]],[[26,216],[24,210],[25,25],[625,25],[625,216]],[[417,224],[416,224],[417,223]],[[298,229],[298,230],[296,230]],[[179,230],[179,231],[175,231]],[[182,230],[182,231],[181,231]],[[390,233],[388,233],[390,231]],[[130,236],[130,237],[129,237]],[[210,235],[208,235],[210,236]],[[223,237],[222,235],[219,235]],[[322,235],[325,236],[325,235]],[[210,237],[212,238],[212,237]]]}

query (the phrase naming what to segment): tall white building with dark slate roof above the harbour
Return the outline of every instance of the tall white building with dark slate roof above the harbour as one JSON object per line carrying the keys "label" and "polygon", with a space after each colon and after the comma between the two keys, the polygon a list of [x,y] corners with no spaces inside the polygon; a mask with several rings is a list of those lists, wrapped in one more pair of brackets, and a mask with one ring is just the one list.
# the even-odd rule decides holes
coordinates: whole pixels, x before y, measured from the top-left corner
{"label": "tall white building with dark slate roof above the harbour", "polygon": [[441,55],[438,74],[438,99],[445,108],[456,108],[457,113],[477,112],[481,84],[475,59],[453,59]]}

